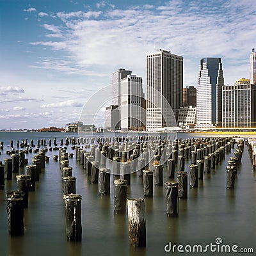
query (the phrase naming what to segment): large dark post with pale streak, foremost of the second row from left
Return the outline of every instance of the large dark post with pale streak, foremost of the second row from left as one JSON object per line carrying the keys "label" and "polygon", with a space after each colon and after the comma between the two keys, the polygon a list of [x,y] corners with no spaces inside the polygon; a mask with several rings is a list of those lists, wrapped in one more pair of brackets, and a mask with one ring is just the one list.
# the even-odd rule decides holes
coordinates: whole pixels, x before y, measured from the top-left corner
{"label": "large dark post with pale streak, foremost of the second row from left", "polygon": [[81,241],[81,195],[69,194],[63,196],[65,200],[66,234],[69,241]]}

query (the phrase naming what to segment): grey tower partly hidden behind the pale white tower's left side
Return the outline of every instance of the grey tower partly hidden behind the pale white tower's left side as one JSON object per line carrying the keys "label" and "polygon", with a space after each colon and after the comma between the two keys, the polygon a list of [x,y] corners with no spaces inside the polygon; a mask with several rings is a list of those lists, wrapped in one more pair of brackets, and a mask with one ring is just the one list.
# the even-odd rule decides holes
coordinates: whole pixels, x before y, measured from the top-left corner
{"label": "grey tower partly hidden behind the pale white tower's left side", "polygon": [[120,68],[111,74],[112,104],[120,106],[120,83],[123,78],[131,75],[131,70]]}

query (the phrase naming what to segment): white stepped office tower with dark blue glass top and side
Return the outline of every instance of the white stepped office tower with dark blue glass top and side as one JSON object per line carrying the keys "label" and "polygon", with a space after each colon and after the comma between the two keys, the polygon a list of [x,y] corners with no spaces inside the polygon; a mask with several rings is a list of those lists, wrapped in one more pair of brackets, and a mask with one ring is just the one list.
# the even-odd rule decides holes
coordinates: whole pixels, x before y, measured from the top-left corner
{"label": "white stepped office tower with dark blue glass top and side", "polygon": [[196,90],[196,127],[221,126],[223,70],[220,58],[202,58]]}

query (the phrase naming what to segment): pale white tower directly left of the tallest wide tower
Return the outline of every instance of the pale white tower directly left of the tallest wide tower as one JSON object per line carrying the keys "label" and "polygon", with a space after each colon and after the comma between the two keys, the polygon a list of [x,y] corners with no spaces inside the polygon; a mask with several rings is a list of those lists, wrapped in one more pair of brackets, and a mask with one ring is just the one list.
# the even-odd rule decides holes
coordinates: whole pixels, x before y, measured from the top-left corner
{"label": "pale white tower directly left of the tallest wide tower", "polygon": [[144,130],[146,110],[143,108],[145,95],[142,91],[142,77],[128,75],[121,80],[120,89],[122,131]]}

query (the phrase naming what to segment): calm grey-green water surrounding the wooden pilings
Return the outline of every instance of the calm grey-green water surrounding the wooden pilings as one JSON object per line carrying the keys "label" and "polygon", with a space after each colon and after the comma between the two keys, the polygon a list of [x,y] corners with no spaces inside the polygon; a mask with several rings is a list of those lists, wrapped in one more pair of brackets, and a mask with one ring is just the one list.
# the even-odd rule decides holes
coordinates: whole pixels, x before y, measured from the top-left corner
{"label": "calm grey-green water surrounding the wooden pilings", "polygon": [[[36,144],[38,139],[46,139],[48,143],[49,139],[56,137],[60,145],[60,138],[72,138],[74,135],[55,132],[0,132],[0,141],[4,141],[0,161],[4,162],[7,157],[5,152],[10,150],[10,140],[13,140],[15,147],[16,140],[28,139],[30,143],[33,139]],[[195,134],[178,134],[178,137],[192,138]],[[75,153],[70,146],[67,152]],[[58,152],[47,152],[50,161],[45,163],[45,170],[36,183],[36,191],[29,191],[29,207],[24,209],[24,236],[8,235],[5,194],[8,190],[16,189],[16,173],[12,180],[6,180],[5,189],[0,190],[0,255],[186,255],[178,252],[166,253],[164,246],[170,241],[172,244],[205,245],[214,243],[216,237],[221,237],[223,244],[237,244],[239,248],[253,248],[255,244],[256,183],[246,145],[235,189],[227,190],[225,184],[225,166],[229,157],[234,156],[232,149],[230,154],[226,154],[225,160],[215,170],[211,170],[211,174],[204,175],[204,180],[199,180],[198,188],[189,189],[188,200],[179,200],[177,219],[166,217],[165,188],[154,187],[154,197],[145,199],[147,246],[139,249],[129,246],[127,214],[113,214],[113,186],[110,196],[99,196],[97,184],[91,183],[90,177],[88,179],[75,157],[70,159],[69,165],[74,167],[77,194],[83,196],[83,238],[81,243],[67,241],[60,164],[52,160],[54,154]],[[29,164],[33,156],[33,153],[26,154]],[[188,164],[190,162],[186,161],[186,171]],[[24,173],[24,168],[20,168],[19,172]],[[165,181],[170,181],[166,172]],[[136,174],[132,175],[127,198],[143,198],[142,179]]]}

